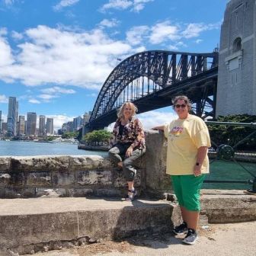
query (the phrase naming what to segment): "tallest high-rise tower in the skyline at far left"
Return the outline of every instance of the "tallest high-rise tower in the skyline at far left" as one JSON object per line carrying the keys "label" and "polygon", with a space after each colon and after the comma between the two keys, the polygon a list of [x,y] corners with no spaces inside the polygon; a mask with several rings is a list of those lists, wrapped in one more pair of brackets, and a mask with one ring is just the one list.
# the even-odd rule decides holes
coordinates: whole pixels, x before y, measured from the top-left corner
{"label": "tallest high-rise tower in the skyline at far left", "polygon": [[17,135],[18,122],[18,101],[15,97],[9,97],[8,102],[8,117],[7,117],[7,136],[13,137]]}

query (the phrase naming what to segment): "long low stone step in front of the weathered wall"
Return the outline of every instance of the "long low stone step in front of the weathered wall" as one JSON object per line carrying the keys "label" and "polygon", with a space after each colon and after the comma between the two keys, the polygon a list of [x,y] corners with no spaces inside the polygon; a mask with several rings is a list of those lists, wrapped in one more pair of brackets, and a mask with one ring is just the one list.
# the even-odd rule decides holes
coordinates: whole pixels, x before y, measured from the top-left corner
{"label": "long low stone step in front of the weathered wall", "polygon": [[0,200],[0,248],[19,254],[59,242],[122,239],[168,232],[174,206],[163,200],[57,197]]}

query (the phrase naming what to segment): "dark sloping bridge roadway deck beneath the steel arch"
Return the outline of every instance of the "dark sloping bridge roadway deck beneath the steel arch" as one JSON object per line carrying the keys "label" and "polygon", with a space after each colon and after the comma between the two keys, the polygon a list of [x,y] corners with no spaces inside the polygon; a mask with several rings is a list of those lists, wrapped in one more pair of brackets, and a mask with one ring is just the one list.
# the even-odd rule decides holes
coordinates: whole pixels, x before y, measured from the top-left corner
{"label": "dark sloping bridge roadway deck beneath the steel arch", "polygon": [[[171,106],[171,98],[173,95],[177,94],[186,94],[192,102],[200,102],[203,98],[212,95],[214,98],[216,95],[217,77],[218,67],[216,66],[199,75],[192,76],[174,85],[139,98],[133,101],[133,103],[138,107],[138,114],[141,114],[150,110]],[[115,120],[117,120],[116,108],[91,120],[90,123],[85,126],[85,130],[103,129]]]}

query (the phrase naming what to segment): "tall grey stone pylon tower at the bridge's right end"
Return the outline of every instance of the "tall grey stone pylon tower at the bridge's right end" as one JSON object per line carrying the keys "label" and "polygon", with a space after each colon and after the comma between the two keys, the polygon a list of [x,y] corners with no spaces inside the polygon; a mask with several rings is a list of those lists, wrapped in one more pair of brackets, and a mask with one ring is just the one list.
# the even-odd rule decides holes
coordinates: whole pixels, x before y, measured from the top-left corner
{"label": "tall grey stone pylon tower at the bridge's right end", "polygon": [[256,115],[256,2],[226,5],[219,45],[216,116]]}

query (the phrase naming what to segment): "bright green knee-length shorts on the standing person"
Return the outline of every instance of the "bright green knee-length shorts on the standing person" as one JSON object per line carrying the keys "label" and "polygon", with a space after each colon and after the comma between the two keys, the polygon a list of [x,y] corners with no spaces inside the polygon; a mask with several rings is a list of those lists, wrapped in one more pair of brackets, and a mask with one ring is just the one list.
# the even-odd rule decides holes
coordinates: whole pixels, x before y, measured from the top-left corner
{"label": "bright green knee-length shorts on the standing person", "polygon": [[180,206],[186,210],[200,211],[200,188],[206,174],[171,175],[174,193]]}

